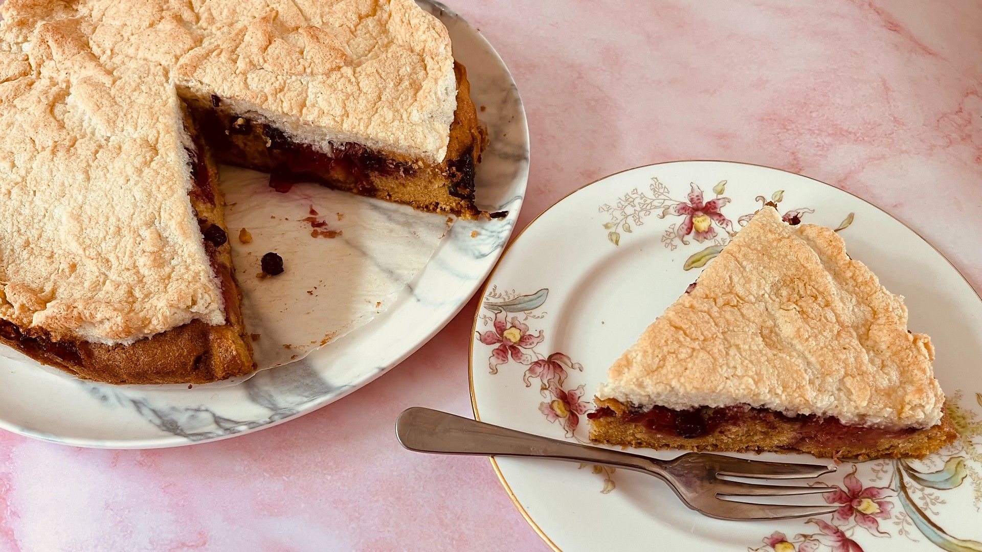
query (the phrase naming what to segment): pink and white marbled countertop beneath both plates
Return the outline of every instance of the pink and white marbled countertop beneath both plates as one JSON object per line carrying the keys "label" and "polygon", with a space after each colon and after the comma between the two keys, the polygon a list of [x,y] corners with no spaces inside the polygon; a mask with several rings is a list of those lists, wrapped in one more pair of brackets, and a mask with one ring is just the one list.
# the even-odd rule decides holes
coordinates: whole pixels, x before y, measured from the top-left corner
{"label": "pink and white marbled countertop beneath both plates", "polygon": [[[519,226],[637,165],[732,159],[894,214],[982,290],[982,3],[455,0],[532,141]],[[475,303],[340,402],[235,439],[83,450],[0,432],[0,551],[546,550],[483,458],[404,451],[413,405],[470,415]]]}

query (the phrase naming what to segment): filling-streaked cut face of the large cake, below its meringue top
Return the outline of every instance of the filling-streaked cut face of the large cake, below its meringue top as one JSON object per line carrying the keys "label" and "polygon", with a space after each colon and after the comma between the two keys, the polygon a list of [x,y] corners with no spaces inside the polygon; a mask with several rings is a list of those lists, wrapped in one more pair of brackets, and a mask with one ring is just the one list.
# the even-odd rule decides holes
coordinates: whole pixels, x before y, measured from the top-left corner
{"label": "filling-streaked cut face of the large cake, below its meringue top", "polygon": [[357,142],[311,143],[285,131],[262,113],[218,94],[187,99],[198,129],[221,161],[267,172],[274,181],[313,181],[344,192],[408,204],[420,211],[464,219],[490,216],[476,205],[475,175],[487,133],[470,99],[466,70],[454,64],[457,109],[449,128],[446,158],[429,162]]}

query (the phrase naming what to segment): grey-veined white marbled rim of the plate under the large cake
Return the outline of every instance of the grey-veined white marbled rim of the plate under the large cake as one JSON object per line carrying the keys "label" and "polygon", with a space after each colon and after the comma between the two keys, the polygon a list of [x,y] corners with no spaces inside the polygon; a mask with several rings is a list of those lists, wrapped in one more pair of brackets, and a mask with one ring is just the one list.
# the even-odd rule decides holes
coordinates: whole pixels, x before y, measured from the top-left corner
{"label": "grey-veined white marbled rim of the plate under the large cake", "polygon": [[[222,439],[309,413],[409,357],[470,299],[511,236],[528,176],[528,129],[518,89],[494,48],[442,6],[421,3],[450,30],[490,142],[477,200],[497,220],[458,221],[384,314],[298,362],[237,386],[145,390],[84,382],[5,350],[0,427],[83,447],[156,448]],[[436,216],[436,215],[434,215]],[[471,237],[473,231],[475,237]],[[6,349],[6,348],[5,348]]]}

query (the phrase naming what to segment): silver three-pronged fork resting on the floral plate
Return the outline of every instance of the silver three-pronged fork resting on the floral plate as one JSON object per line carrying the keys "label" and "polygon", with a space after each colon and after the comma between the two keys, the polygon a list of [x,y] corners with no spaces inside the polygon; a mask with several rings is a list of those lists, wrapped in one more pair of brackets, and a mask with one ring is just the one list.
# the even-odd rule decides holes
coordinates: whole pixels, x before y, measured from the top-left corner
{"label": "silver three-pronged fork resting on the floral plate", "polygon": [[522,433],[420,407],[399,414],[396,435],[404,447],[422,453],[547,458],[641,471],[668,483],[685,506],[718,520],[785,520],[836,511],[835,506],[829,505],[755,504],[728,500],[729,497],[773,497],[835,490],[829,487],[758,485],[720,477],[813,478],[836,470],[830,466],[761,462],[704,453],[685,453],[672,460],[658,460]]}

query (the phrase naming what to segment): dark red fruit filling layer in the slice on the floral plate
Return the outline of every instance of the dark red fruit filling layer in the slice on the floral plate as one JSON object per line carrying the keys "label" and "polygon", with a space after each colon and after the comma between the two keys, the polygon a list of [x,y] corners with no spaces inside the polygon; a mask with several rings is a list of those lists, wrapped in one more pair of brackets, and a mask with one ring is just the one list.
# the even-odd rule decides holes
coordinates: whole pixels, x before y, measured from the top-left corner
{"label": "dark red fruit filling layer in the slice on the floral plate", "polygon": [[833,416],[798,414],[788,416],[768,409],[746,406],[711,408],[702,407],[677,411],[655,406],[647,410],[630,410],[618,414],[613,409],[601,407],[586,414],[590,419],[619,417],[621,421],[644,426],[660,435],[694,439],[712,435],[721,428],[747,423],[770,426],[772,429],[793,429],[796,438],[791,447],[809,444],[815,447],[872,446],[887,438],[900,439],[917,429],[889,429],[847,425]]}

